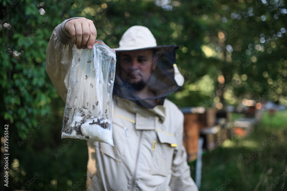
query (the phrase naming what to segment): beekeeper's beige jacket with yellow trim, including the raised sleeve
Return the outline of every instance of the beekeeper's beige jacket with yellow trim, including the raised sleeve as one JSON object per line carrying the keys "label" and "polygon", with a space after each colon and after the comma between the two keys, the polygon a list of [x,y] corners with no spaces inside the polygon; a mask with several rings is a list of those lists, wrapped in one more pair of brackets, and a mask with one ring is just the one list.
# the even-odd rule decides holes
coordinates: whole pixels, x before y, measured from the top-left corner
{"label": "beekeeper's beige jacket with yellow trim, including the raised sleeve", "polygon": [[[66,101],[73,43],[64,21],[51,36],[46,71]],[[87,141],[87,190],[198,190],[183,147],[183,114],[170,101],[145,109],[113,98],[115,147]]]}

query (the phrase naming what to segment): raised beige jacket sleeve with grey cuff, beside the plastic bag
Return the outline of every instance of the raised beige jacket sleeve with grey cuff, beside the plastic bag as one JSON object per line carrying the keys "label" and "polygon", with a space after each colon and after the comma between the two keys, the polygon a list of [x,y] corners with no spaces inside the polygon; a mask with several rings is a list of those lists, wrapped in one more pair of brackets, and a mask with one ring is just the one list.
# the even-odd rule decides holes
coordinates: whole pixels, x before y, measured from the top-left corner
{"label": "raised beige jacket sleeve with grey cuff, beside the plastic bag", "polygon": [[[71,19],[77,18],[80,17]],[[71,19],[63,21],[53,30],[46,52],[46,72],[64,102],[68,93],[74,45],[65,24]]]}

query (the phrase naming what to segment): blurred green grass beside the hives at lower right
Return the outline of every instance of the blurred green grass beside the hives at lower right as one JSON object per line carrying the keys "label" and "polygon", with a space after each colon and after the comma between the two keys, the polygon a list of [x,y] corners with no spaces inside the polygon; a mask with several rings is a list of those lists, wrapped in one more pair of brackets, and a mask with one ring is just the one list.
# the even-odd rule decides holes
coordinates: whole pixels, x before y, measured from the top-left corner
{"label": "blurred green grass beside the hives at lower right", "polygon": [[250,136],[227,139],[207,152],[201,191],[287,190],[287,111],[273,117],[265,112]]}

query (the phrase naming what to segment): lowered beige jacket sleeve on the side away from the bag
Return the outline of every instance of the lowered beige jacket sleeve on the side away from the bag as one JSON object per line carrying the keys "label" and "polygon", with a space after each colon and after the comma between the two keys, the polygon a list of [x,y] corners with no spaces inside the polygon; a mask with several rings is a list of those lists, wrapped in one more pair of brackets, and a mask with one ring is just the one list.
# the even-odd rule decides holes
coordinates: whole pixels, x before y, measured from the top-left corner
{"label": "lowered beige jacket sleeve on the side away from the bag", "polygon": [[174,157],[172,162],[172,177],[170,180],[170,188],[180,191],[198,191],[195,182],[190,175],[190,168],[187,164],[187,154],[183,146],[183,113],[180,112],[179,127],[175,136],[177,138],[178,146],[174,151]]}

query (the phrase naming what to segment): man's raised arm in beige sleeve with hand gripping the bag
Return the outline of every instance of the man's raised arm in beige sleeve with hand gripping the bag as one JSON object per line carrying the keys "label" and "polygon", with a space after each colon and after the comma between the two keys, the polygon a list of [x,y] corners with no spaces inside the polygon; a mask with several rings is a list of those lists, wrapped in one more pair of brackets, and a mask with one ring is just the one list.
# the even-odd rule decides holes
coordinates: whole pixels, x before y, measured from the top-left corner
{"label": "man's raised arm in beige sleeve with hand gripping the bag", "polygon": [[92,48],[96,36],[93,21],[86,18],[67,19],[53,30],[46,52],[46,72],[64,102],[68,93],[73,44],[77,48]]}

